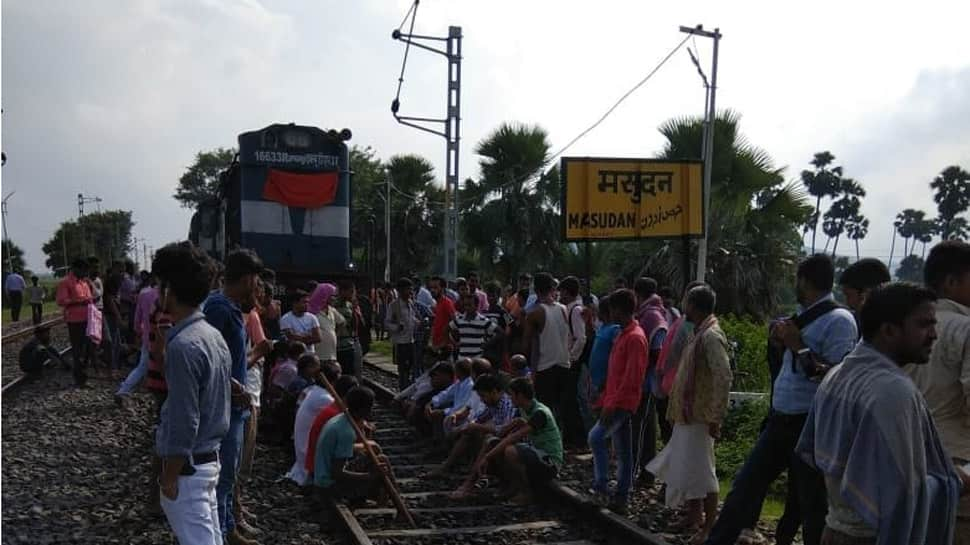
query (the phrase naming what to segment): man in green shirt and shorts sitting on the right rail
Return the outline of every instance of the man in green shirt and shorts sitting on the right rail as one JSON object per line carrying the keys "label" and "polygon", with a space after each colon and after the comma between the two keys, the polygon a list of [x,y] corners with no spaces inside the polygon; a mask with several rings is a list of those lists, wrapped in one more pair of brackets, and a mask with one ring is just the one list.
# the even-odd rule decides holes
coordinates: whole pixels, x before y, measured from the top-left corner
{"label": "man in green shirt and shorts sitting on the right rail", "polygon": [[517,378],[509,384],[509,391],[519,417],[473,471],[482,472],[494,463],[508,486],[512,503],[528,505],[535,488],[559,473],[563,463],[562,434],[549,407],[536,400],[531,382]]}

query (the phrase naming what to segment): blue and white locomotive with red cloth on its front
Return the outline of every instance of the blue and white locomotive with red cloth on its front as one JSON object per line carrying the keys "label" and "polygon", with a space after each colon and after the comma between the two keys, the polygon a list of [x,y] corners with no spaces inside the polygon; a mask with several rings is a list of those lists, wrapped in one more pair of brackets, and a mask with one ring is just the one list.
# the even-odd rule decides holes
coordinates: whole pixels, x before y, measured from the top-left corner
{"label": "blue and white locomotive with red cloth on its front", "polygon": [[277,288],[354,276],[351,133],[275,124],[239,135],[218,197],[192,217],[189,239],[215,259],[249,248],[276,271]]}

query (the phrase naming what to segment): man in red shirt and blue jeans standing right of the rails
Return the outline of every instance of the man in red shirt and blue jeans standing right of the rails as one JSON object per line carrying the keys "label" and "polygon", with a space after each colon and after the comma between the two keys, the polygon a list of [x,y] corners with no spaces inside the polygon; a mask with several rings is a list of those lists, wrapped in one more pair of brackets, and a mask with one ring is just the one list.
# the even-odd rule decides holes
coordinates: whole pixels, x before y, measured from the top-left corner
{"label": "man in red shirt and blue jeans standing right of the rails", "polygon": [[633,319],[636,296],[622,289],[610,295],[613,323],[621,327],[613,342],[606,371],[606,386],[600,398],[602,410],[599,421],[589,432],[593,451],[593,491],[599,499],[607,497],[610,451],[607,439],[613,438],[616,451],[616,491],[609,498],[610,508],[625,513],[633,481],[633,428],[631,417],[640,406],[643,396],[643,377],[647,372],[647,337],[640,324]]}

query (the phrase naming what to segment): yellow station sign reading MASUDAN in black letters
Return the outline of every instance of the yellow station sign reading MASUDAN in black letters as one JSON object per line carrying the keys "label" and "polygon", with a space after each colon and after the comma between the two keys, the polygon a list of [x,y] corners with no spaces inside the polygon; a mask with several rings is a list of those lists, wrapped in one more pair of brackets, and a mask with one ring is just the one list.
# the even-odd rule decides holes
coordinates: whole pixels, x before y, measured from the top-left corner
{"label": "yellow station sign reading MASUDAN in black letters", "polygon": [[564,157],[568,241],[704,236],[703,163]]}

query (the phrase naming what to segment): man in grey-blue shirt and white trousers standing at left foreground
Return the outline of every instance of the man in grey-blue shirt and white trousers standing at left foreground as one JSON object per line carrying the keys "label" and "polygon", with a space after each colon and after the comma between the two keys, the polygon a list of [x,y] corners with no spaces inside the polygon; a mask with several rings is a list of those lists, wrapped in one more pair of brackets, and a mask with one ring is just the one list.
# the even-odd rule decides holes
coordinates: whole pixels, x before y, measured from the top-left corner
{"label": "man in grey-blue shirt and white trousers standing at left foreground", "polygon": [[190,242],[155,254],[161,306],[174,325],[166,334],[168,397],[155,436],[162,459],[158,478],[162,510],[181,545],[223,545],[216,502],[219,445],[229,429],[226,343],[199,312],[213,264]]}

